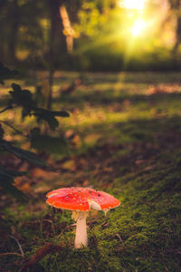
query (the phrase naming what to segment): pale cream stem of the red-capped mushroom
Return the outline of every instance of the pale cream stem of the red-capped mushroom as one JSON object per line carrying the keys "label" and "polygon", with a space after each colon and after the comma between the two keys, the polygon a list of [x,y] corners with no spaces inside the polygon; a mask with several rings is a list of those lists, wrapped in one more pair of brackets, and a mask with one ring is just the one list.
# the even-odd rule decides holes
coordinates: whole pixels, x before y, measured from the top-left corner
{"label": "pale cream stem of the red-capped mushroom", "polygon": [[74,242],[75,248],[82,248],[82,246],[87,247],[87,217],[87,211],[75,211],[72,213],[72,219],[77,222]]}

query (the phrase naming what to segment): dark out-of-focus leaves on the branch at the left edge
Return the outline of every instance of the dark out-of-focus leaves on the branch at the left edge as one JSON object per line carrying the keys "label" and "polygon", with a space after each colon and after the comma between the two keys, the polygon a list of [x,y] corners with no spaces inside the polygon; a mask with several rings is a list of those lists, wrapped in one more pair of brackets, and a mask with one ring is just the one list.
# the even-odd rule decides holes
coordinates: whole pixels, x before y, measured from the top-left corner
{"label": "dark out-of-focus leaves on the branch at the left edge", "polygon": [[[15,72],[11,71],[9,68],[5,67],[3,63],[0,63],[0,79],[1,83],[4,83],[4,80],[7,78],[11,78],[14,76]],[[7,102],[7,105],[5,106],[5,109],[3,109],[0,113],[14,110],[17,107],[20,107],[22,109],[22,117],[23,119],[26,116],[36,116],[37,121],[46,121],[50,127],[51,130],[55,130],[56,127],[59,125],[59,121],[55,118],[55,116],[59,117],[69,117],[68,112],[62,112],[62,111],[48,111],[42,108],[38,108],[36,102],[33,100],[33,94],[29,90],[22,90],[21,86],[18,84],[13,83],[12,84],[13,91],[10,91],[10,99]],[[0,121],[3,124],[5,121]],[[14,128],[14,127],[12,127]],[[16,130],[16,129],[15,129]],[[17,131],[17,130],[16,130]],[[49,146],[54,146],[54,144],[57,144],[59,141],[60,145],[65,145],[65,141],[63,138],[60,139],[54,139],[49,136],[43,136],[41,135],[40,129],[38,129],[38,139],[37,135],[33,133],[33,130],[31,131],[32,139],[30,137],[30,141],[32,141],[32,147],[39,150],[48,150]],[[47,163],[38,158],[35,153],[31,151],[24,151],[21,148],[17,148],[14,146],[14,142],[11,141],[5,141],[5,130],[2,127],[2,124],[0,124],[0,151],[1,155],[3,156],[5,151],[8,151],[10,153],[13,153],[15,157],[18,157],[20,160],[27,160],[31,164],[39,167],[46,167]],[[39,140],[39,141],[38,141]],[[42,145],[40,145],[42,144]],[[40,148],[39,148],[40,145]],[[50,148],[51,150],[51,148]],[[58,148],[58,151],[60,151],[60,148]],[[0,186],[5,191],[5,193],[13,194],[14,197],[17,197],[18,199],[24,199],[24,194],[16,189],[14,187],[14,178],[18,176],[23,176],[25,172],[21,171],[14,171],[14,170],[8,170],[3,165],[0,164]]]}

